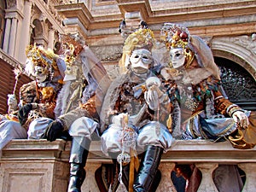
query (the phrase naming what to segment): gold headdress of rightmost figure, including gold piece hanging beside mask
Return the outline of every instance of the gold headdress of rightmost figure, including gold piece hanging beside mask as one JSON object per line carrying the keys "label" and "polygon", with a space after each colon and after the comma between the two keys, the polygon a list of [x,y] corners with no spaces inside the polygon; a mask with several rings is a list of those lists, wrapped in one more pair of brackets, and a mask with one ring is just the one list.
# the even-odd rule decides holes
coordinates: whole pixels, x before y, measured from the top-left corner
{"label": "gold headdress of rightmost figure, including gold piece hanging beside mask", "polygon": [[190,33],[187,27],[174,23],[165,23],[160,32],[160,39],[165,42],[166,48],[183,48],[186,56],[186,66],[194,60],[195,54],[189,49]]}

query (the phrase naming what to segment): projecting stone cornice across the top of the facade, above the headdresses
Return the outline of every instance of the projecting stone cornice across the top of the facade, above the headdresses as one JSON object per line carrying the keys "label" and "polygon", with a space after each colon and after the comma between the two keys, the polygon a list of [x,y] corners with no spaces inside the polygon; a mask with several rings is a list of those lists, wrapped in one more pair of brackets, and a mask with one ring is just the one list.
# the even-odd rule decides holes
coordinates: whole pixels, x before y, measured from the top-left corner
{"label": "projecting stone cornice across the top of the facade, above the headdresses", "polygon": [[[89,10],[84,3],[58,5],[55,6],[55,9],[67,20],[78,18],[86,29],[84,32],[86,36],[101,35],[94,34],[98,30],[102,30],[104,34],[116,33],[111,29],[118,28],[119,22],[125,18],[125,13],[132,12],[140,13],[142,19],[153,30],[160,30],[160,25],[164,22],[179,22],[195,27],[196,31],[203,32],[201,33],[202,36],[209,35],[206,32],[218,33],[217,29],[220,29],[220,35],[230,34],[226,31],[227,26],[222,25],[233,25],[234,30],[231,31],[233,34],[255,32],[255,1],[218,0],[218,3],[212,3],[212,1],[202,3],[202,1],[196,0],[189,1],[189,4],[184,4],[184,2],[188,3],[188,1],[175,3],[168,1],[154,3],[152,1],[149,3],[148,0],[116,0],[116,4],[109,5],[108,9],[103,6],[100,9],[101,6],[99,6],[97,9]],[[174,6],[171,6],[172,4]],[[236,25],[240,26],[235,27]],[[108,33],[106,33],[106,30],[108,30]]]}

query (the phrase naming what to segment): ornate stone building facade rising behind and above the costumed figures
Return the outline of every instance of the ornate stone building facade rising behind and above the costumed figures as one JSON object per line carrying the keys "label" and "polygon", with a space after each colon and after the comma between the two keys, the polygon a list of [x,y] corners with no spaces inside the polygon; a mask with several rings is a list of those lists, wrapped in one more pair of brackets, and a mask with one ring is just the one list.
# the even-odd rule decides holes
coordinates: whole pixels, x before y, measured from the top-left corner
{"label": "ornate stone building facade rising behind and above the costumed figures", "polygon": [[[6,84],[1,85],[1,113],[6,112],[7,94],[15,84],[12,70],[25,65],[26,46],[38,44],[55,49],[59,34],[78,32],[114,78],[124,42],[119,34],[123,19],[130,26],[146,21],[156,36],[164,22],[188,26],[191,34],[201,36],[210,45],[224,80],[231,77],[233,84],[240,83],[236,84],[236,92],[226,84],[230,100],[251,108],[256,102],[255,10],[253,0],[3,0],[0,78],[8,77],[9,81],[2,81]],[[29,80],[21,77],[18,87]]]}

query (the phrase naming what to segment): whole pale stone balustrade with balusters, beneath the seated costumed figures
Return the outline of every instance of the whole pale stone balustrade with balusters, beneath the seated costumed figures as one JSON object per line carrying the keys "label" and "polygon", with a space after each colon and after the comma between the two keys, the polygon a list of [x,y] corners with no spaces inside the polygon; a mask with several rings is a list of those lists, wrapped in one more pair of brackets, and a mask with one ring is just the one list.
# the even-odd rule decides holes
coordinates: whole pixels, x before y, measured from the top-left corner
{"label": "whole pale stone balustrade with balusters, beneath the seated costumed figures", "polygon": [[[13,140],[0,158],[0,192],[66,192],[69,177],[70,142],[56,140]],[[100,143],[92,142],[85,166],[83,192],[99,192],[95,172],[102,163],[112,160],[102,154]],[[212,172],[218,165],[238,165],[246,173],[243,192],[256,189],[256,148],[236,149],[229,142],[211,143],[205,140],[174,141],[172,148],[162,155],[162,174],[157,192],[176,192],[171,179],[175,163],[195,163],[201,170],[199,192],[218,191]],[[121,185],[117,191],[122,191]]]}

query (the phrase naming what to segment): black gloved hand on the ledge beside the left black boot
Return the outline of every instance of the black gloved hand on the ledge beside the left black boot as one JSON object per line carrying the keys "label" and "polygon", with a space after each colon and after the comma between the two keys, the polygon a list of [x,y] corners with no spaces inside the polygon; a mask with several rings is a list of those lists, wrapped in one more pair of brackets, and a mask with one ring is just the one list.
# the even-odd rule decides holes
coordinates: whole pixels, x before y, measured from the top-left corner
{"label": "black gloved hand on the ledge beside the left black boot", "polygon": [[44,137],[46,137],[48,141],[53,142],[56,138],[61,137],[62,131],[64,131],[64,127],[61,122],[54,120],[46,128]]}

